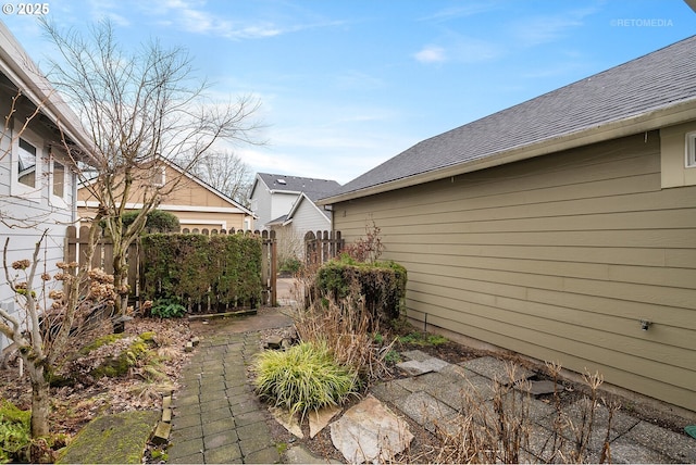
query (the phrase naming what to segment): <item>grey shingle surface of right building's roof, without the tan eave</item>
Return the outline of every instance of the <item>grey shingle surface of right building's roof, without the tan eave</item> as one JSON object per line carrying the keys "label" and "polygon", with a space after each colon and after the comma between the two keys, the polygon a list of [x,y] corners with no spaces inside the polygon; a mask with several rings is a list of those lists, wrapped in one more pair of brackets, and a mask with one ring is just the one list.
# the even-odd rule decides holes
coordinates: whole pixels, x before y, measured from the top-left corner
{"label": "grey shingle surface of right building's roof, without the tan eave", "polygon": [[331,194],[481,160],[693,99],[696,36],[423,140]]}

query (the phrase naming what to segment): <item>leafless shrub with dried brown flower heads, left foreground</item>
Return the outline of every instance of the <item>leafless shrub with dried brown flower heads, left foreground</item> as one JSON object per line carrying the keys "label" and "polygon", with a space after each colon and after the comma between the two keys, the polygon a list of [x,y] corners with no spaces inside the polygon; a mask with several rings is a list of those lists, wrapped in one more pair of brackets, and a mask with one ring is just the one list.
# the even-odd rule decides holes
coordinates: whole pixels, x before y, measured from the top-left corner
{"label": "leafless shrub with dried brown flower heads, left foreground", "polygon": [[[12,341],[27,367],[32,381],[32,437],[49,435],[50,375],[63,355],[74,349],[76,340],[95,330],[103,322],[101,311],[113,304],[116,293],[113,277],[87,265],[60,263],[60,272],[50,276],[41,271],[41,243],[36,242],[32,260],[8,264],[10,238],[3,249],[4,276],[15,301],[22,309],[10,314],[0,307],[0,332]],[[36,284],[40,281],[40,284]],[[51,302],[50,304],[48,302]]]}

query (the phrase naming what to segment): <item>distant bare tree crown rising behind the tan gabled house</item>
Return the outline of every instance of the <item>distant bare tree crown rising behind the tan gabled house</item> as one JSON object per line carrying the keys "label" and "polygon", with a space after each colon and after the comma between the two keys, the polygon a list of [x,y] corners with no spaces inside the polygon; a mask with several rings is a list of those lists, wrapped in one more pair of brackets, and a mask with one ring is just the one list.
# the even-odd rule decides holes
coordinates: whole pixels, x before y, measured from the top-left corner
{"label": "distant bare tree crown rising behind the tan gabled house", "polygon": [[[186,162],[189,164],[189,162]],[[249,206],[253,174],[233,151],[214,151],[192,164],[192,173],[238,203]]]}

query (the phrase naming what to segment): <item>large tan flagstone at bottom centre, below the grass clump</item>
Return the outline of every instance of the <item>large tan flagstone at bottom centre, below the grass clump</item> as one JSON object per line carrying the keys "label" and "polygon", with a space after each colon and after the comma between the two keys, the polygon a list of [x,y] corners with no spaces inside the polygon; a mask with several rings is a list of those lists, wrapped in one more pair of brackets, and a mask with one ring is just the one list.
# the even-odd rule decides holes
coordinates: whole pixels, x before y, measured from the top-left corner
{"label": "large tan flagstone at bottom centre, below the grass clump", "polygon": [[373,395],[331,424],[331,439],[349,463],[388,463],[413,440],[408,424]]}

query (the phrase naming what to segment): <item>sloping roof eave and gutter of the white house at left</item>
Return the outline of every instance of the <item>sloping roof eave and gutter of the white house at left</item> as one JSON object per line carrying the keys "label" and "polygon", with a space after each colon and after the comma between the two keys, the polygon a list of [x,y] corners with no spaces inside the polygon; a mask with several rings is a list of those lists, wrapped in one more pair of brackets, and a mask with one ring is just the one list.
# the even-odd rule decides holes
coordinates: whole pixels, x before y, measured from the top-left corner
{"label": "sloping roof eave and gutter of the white house at left", "polygon": [[86,151],[83,155],[88,162],[88,153],[94,148],[94,141],[83,129],[77,115],[41,74],[36,63],[2,22],[0,22],[0,73],[39,108],[50,123],[42,118],[37,120],[49,127],[58,125],[67,139]]}

